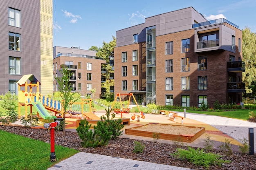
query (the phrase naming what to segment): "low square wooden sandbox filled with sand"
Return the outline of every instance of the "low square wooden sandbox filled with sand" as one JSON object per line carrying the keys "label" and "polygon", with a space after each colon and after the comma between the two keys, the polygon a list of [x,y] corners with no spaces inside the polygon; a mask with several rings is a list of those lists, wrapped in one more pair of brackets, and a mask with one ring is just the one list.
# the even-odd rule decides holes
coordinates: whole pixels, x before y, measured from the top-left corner
{"label": "low square wooden sandbox filled with sand", "polygon": [[[182,127],[182,126],[170,125],[170,124],[157,124],[157,125],[163,126],[164,128],[167,129],[168,132],[161,132],[161,131],[157,132],[157,127],[155,127],[155,129],[152,131],[148,131],[149,128],[147,129],[147,127],[154,126],[154,124],[146,124],[146,125],[137,126],[134,128],[126,128],[125,134],[143,136],[143,137],[153,137],[153,133],[155,133],[155,135],[159,134],[159,139],[166,139],[166,140],[172,140],[172,141],[180,140],[182,142],[191,143],[191,142],[195,141],[195,139],[200,137],[202,134],[204,134],[204,132],[205,132],[205,127],[195,127],[195,126],[183,126]],[[191,130],[193,132],[190,132],[189,134],[185,134],[186,132],[183,133],[181,130],[178,134],[177,133],[172,134],[172,131],[173,131],[172,127],[175,127],[176,129],[177,128],[188,128],[188,129],[191,128]],[[145,130],[138,130],[141,128],[145,128]]]}

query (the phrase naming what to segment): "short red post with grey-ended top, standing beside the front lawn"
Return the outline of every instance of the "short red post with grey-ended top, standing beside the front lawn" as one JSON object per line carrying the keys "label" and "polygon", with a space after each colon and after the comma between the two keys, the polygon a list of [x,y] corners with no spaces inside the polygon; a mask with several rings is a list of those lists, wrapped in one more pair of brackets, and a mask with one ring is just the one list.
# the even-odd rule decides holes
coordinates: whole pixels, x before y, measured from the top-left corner
{"label": "short red post with grey-ended top, standing beside the front lawn", "polygon": [[52,123],[45,123],[44,128],[50,128],[51,132],[51,155],[50,155],[50,161],[56,161],[56,155],[55,155],[55,144],[54,144],[54,128],[56,128],[59,124],[61,124],[60,121],[54,121]]}

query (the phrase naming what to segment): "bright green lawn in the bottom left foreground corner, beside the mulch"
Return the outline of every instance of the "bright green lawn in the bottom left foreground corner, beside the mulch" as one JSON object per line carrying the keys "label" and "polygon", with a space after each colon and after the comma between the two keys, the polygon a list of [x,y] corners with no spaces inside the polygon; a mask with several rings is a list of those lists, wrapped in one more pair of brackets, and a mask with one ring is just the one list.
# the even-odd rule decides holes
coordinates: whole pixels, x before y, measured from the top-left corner
{"label": "bright green lawn in the bottom left foreground corner, beside the mulch", "polygon": [[78,150],[55,146],[56,162],[50,161],[50,144],[0,130],[0,170],[47,170]]}

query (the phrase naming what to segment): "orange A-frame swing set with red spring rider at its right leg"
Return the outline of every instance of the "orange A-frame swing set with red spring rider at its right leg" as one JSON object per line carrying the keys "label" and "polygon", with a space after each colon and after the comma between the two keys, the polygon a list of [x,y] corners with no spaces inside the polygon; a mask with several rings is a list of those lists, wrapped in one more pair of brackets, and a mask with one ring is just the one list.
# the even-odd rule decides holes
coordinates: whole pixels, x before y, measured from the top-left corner
{"label": "orange A-frame swing set with red spring rider at its right leg", "polygon": [[[129,96],[128,105],[127,105],[126,108],[124,108],[124,106],[123,106],[123,104],[122,104],[121,95],[123,95],[123,96]],[[137,101],[136,101],[136,99],[135,99],[133,93],[128,93],[128,94],[120,94],[120,93],[117,93],[117,96],[115,97],[115,100],[114,100],[114,102],[113,102],[111,108],[113,108],[113,110],[114,110],[114,112],[115,112],[116,114],[121,113],[121,118],[123,118],[123,113],[130,113],[129,104],[130,104],[130,99],[131,99],[131,97],[133,98],[133,101],[135,102],[136,106],[138,107],[139,113],[140,113],[140,115],[136,115],[135,113],[133,113],[131,119],[134,120],[135,117],[138,117],[138,119],[139,119],[139,117],[141,117],[142,119],[145,119],[145,114],[140,110],[139,105],[137,104]],[[119,102],[120,102],[120,104],[121,104],[121,108],[120,108],[120,109],[119,109],[119,108],[114,108],[115,102],[117,102],[117,98],[119,98]]]}

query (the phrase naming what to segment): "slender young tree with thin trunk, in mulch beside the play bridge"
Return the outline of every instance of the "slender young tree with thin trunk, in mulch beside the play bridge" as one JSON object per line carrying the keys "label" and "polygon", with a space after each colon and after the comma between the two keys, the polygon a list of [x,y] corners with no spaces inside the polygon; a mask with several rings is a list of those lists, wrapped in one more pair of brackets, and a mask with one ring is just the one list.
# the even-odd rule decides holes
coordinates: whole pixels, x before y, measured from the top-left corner
{"label": "slender young tree with thin trunk, in mulch beside the play bridge", "polygon": [[62,77],[56,77],[56,80],[58,82],[58,90],[61,92],[61,97],[62,97],[62,107],[63,107],[63,118],[64,118],[64,122],[63,122],[63,135],[65,135],[65,115],[67,112],[67,108],[70,106],[70,104],[76,102],[77,99],[74,99],[74,94],[72,93],[72,89],[70,88],[70,76],[71,76],[71,72],[69,69],[67,68],[62,68],[59,70],[62,74]]}

